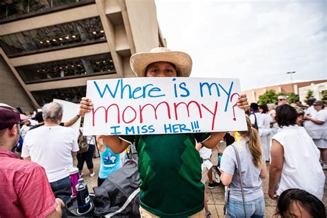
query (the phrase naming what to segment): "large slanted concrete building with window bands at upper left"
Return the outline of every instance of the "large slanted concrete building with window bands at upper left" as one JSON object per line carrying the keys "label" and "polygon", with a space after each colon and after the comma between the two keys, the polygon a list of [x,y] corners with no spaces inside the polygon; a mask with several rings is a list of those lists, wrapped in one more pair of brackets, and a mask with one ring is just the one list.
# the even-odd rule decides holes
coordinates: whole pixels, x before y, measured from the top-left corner
{"label": "large slanted concrete building with window bands at upper left", "polygon": [[135,77],[130,56],[166,41],[154,0],[28,0],[0,4],[0,46],[0,102],[32,111]]}

